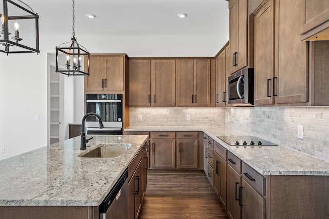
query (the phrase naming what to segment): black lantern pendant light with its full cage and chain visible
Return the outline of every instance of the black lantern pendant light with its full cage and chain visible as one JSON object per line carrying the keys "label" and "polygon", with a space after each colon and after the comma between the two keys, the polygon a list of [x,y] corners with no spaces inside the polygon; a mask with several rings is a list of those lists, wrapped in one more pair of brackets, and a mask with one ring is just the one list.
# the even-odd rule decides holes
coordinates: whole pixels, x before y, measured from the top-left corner
{"label": "black lantern pendant light with its full cage and chain visible", "polygon": [[[72,24],[72,38],[71,41],[67,43],[62,43],[58,47],[56,47],[56,72],[59,72],[61,74],[67,75],[67,76],[89,76],[89,52],[86,48],[84,48],[82,45],[80,45],[77,42],[77,39],[75,37],[75,31],[74,31],[74,25],[75,25],[75,15],[74,15],[74,0],[73,2],[73,24]],[[66,46],[65,46],[66,44]],[[62,55],[62,56],[61,56]],[[81,68],[80,61],[81,57],[84,57],[87,63],[87,72],[84,72]],[[65,57],[65,58],[64,58]],[[62,58],[62,59],[61,59]],[[63,64],[60,64],[63,63]],[[65,63],[65,64],[64,64]],[[60,66],[64,66],[60,69]]]}

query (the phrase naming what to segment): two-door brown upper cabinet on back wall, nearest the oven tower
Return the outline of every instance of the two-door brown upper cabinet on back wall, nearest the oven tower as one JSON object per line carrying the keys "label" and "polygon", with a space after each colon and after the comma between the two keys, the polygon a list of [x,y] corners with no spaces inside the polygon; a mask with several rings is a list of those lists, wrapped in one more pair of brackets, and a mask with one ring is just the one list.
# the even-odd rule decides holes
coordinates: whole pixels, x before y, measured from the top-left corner
{"label": "two-door brown upper cabinet on back wall, nearest the oven tower", "polygon": [[130,106],[175,106],[175,60],[129,60]]}

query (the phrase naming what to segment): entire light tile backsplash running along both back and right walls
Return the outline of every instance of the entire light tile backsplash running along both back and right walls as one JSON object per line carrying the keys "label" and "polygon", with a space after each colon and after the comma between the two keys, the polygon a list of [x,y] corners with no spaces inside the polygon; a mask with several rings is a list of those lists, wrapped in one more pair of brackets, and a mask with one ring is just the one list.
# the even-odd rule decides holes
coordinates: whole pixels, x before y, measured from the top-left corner
{"label": "entire light tile backsplash running along both back and right walls", "polygon": [[130,125],[226,126],[329,161],[329,107],[131,107]]}

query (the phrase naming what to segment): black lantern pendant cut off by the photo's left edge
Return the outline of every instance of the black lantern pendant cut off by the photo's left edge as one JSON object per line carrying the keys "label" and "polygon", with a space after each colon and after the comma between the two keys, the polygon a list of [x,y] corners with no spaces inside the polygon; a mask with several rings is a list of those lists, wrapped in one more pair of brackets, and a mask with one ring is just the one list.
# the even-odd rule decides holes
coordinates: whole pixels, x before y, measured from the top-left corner
{"label": "black lantern pendant cut off by the photo's left edge", "polygon": [[[0,1],[3,3],[0,5],[0,52],[5,52],[7,55],[9,53],[39,53],[39,15],[22,1],[17,0],[29,9],[10,0]],[[14,34],[10,33],[10,29]],[[23,33],[25,40],[21,38],[20,32]],[[27,33],[28,37],[26,37]],[[10,34],[13,36],[10,37]]]}

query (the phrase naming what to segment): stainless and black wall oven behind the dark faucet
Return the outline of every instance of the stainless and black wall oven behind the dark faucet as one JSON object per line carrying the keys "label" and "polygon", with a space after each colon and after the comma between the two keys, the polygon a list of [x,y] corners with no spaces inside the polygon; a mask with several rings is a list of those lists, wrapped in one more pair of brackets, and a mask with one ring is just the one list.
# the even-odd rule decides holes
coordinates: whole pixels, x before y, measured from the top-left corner
{"label": "stainless and black wall oven behind the dark faucet", "polygon": [[99,129],[98,119],[89,116],[85,123],[86,134],[122,134],[122,94],[86,94],[86,113],[98,114],[104,125]]}

